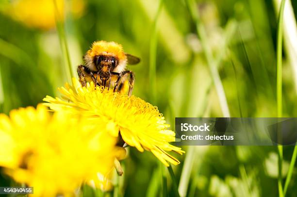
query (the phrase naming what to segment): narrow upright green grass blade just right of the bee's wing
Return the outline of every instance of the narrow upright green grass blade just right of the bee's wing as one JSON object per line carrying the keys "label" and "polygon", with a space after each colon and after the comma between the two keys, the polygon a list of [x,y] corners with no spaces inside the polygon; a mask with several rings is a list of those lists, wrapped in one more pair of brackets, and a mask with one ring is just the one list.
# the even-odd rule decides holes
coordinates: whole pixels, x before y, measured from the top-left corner
{"label": "narrow upright green grass blade just right of the bee's wing", "polygon": [[149,87],[150,87],[150,101],[155,103],[156,101],[156,56],[157,56],[157,21],[160,16],[162,10],[163,0],[159,1],[159,6],[157,10],[157,14],[155,16],[153,26],[152,26],[152,33],[150,37],[149,43]]}

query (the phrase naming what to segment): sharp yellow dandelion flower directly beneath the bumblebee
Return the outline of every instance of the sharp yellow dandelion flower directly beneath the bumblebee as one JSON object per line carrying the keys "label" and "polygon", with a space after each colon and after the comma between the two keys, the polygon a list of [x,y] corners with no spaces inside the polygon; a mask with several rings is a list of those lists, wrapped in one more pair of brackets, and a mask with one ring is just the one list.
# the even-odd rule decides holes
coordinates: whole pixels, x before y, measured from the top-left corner
{"label": "sharp yellow dandelion flower directly beneath the bumblebee", "polygon": [[120,136],[130,146],[139,151],[151,151],[163,164],[180,164],[166,151],[182,154],[181,148],[170,145],[175,141],[175,132],[168,130],[165,118],[157,107],[137,98],[128,97],[94,83],[82,87],[73,78],[73,85],[66,84],[59,88],[62,99],[47,96],[46,106],[53,111],[68,111],[72,115],[83,115],[89,120],[104,124],[105,131],[113,136]]}

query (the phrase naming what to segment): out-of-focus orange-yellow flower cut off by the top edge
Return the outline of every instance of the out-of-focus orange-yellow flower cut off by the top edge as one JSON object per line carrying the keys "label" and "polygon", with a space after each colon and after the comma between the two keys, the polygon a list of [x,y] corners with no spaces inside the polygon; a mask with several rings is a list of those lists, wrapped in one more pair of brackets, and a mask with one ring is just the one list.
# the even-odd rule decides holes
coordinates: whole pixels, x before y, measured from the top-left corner
{"label": "out-of-focus orange-yellow flower cut off by the top edge", "polygon": [[[67,11],[73,16],[81,16],[84,10],[83,0],[55,0],[60,19],[63,20]],[[67,6],[66,6],[67,2]],[[48,30],[55,27],[54,0],[12,0],[2,9],[6,15],[29,27]]]}

